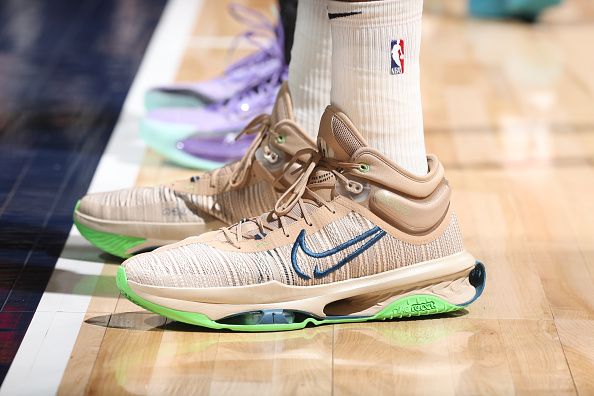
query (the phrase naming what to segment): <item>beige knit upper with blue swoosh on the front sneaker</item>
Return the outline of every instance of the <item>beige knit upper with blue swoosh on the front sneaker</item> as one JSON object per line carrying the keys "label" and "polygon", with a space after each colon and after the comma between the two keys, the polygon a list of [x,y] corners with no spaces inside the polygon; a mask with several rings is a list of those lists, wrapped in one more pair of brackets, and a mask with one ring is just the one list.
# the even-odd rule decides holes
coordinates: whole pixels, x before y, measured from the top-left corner
{"label": "beige knit upper with blue swoosh on the front sneaker", "polygon": [[[368,147],[329,106],[318,150],[274,209],[127,260],[128,281],[165,288],[313,286],[380,274],[463,251],[450,187],[435,156],[413,175]],[[289,164],[291,165],[291,164]],[[297,291],[296,291],[297,293]]]}

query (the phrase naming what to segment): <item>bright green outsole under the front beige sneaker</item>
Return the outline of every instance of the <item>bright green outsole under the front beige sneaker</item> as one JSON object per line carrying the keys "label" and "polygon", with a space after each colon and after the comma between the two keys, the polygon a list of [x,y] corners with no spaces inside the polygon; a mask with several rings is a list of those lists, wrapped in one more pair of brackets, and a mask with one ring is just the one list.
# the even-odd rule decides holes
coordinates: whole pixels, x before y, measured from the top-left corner
{"label": "bright green outsole under the front beige sneaker", "polygon": [[166,308],[143,299],[142,297],[134,293],[134,291],[132,291],[132,289],[128,285],[128,280],[126,278],[126,270],[124,269],[124,267],[120,267],[118,269],[116,282],[118,288],[128,300],[132,301],[134,304],[139,305],[142,308],[145,308],[151,312],[154,312],[166,318],[178,322],[208,327],[211,329],[227,329],[245,332],[298,330],[306,327],[308,324],[317,326],[334,323],[353,323],[368,322],[374,320],[411,318],[417,316],[454,312],[464,308],[464,306],[450,304],[449,302],[435,296],[420,294],[398,299],[373,316],[354,318],[341,317],[329,319],[316,319],[313,317],[308,317],[305,320],[296,323],[237,325],[219,323],[214,320],[211,320],[206,315],[200,313],[185,312],[176,309]]}

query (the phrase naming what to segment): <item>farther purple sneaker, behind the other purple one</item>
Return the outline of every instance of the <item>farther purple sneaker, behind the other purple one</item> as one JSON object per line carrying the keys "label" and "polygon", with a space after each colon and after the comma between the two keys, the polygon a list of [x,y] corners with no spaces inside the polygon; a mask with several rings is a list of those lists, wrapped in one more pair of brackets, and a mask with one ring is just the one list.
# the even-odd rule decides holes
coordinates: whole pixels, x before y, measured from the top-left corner
{"label": "farther purple sneaker, behind the other purple one", "polygon": [[[231,48],[235,48],[239,40],[245,39],[259,50],[232,64],[224,74],[211,80],[152,88],[145,95],[148,111],[168,107],[196,108],[220,102],[245,90],[254,81],[268,78],[284,66],[284,35],[280,23],[275,25],[258,11],[239,4],[231,4],[229,13],[250,28],[235,39]],[[271,38],[270,43],[263,46],[259,39],[267,37]]]}

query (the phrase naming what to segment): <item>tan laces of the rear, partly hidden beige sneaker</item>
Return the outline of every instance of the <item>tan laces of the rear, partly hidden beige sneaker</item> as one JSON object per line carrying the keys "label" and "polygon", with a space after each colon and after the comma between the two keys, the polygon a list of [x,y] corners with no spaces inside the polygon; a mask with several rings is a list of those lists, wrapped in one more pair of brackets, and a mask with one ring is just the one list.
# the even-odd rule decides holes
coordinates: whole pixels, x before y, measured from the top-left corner
{"label": "tan laces of the rear, partly hidden beige sneaker", "polygon": [[[282,122],[282,121],[281,121]],[[246,153],[241,160],[229,164],[223,168],[215,169],[210,175],[210,186],[216,187],[216,180],[218,177],[232,167],[229,185],[232,188],[240,187],[249,180],[252,165],[256,158],[256,151],[260,146],[264,151],[264,157],[276,159],[276,153],[270,149],[270,139],[276,139],[279,135],[276,128],[271,125],[271,116],[269,114],[260,114],[255,117],[250,123],[241,131],[235,139],[239,139],[244,135],[256,135]],[[276,182],[275,182],[276,183]]]}

